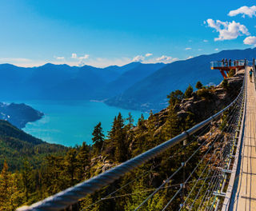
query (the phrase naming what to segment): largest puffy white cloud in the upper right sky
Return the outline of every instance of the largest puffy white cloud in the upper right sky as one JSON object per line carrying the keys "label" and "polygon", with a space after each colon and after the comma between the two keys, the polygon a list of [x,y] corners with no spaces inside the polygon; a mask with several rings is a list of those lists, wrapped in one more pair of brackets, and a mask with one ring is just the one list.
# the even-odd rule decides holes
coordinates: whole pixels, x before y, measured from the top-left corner
{"label": "largest puffy white cloud in the upper right sky", "polygon": [[250,34],[246,26],[239,22],[222,22],[219,20],[214,21],[213,19],[207,19],[206,22],[210,28],[214,28],[219,33],[218,38],[214,38],[214,41],[231,40],[238,38],[242,34]]}

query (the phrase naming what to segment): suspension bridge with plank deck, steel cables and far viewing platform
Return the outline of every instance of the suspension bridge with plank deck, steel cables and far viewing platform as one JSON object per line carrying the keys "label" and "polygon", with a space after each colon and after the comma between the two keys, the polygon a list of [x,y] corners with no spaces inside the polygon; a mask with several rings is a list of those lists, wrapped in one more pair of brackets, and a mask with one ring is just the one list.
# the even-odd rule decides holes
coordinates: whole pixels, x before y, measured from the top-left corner
{"label": "suspension bridge with plank deck, steel cables and far viewing platform", "polygon": [[[134,206],[134,210],[147,210],[146,205],[150,199],[165,189],[173,191],[166,195],[167,202],[159,210],[256,210],[256,91],[255,78],[249,77],[251,69],[255,76],[255,64],[248,61],[236,61],[232,64],[213,62],[212,69],[220,70],[224,78],[228,77],[229,70],[244,71],[240,92],[230,105],[177,137],[129,161],[34,205],[23,206],[18,211],[84,211],[104,201],[142,193],[146,197]],[[147,177],[162,163],[152,166],[107,193],[105,197],[79,209],[80,201],[88,194],[111,185],[126,173],[150,162],[154,157],[161,157],[178,144],[181,145],[180,149],[166,157],[165,161],[180,156],[182,162],[176,169],[170,169],[166,173],[168,177],[158,187],[142,189],[137,193],[123,193],[128,186],[132,186],[139,178]],[[192,146],[193,150],[188,150]],[[197,163],[194,163],[195,157],[199,157]],[[174,180],[178,175],[182,175],[182,178]]]}

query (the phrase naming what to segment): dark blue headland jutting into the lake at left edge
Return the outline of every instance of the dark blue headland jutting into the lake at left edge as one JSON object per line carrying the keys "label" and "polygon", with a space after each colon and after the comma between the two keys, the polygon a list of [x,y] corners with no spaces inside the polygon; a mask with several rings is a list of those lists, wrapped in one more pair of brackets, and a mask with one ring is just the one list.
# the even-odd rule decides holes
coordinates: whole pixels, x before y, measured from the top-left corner
{"label": "dark blue headland jutting into the lake at left edge", "polygon": [[24,103],[0,102],[0,119],[9,121],[19,129],[24,128],[28,122],[41,119],[43,115],[44,113]]}

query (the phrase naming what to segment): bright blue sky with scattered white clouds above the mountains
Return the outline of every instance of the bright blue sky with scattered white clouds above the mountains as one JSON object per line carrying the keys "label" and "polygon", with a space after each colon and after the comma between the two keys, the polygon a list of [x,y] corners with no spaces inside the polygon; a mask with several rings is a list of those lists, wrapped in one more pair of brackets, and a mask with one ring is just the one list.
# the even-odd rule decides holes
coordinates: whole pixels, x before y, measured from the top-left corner
{"label": "bright blue sky with scattered white clouds above the mountains", "polygon": [[255,47],[256,2],[1,0],[0,27],[0,63],[169,63]]}

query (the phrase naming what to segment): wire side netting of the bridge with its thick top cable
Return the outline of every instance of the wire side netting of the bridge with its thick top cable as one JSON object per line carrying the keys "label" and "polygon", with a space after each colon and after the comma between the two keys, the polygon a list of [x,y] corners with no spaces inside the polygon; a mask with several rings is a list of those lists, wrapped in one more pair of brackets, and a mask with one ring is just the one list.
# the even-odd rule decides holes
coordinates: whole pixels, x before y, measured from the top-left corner
{"label": "wire side netting of the bridge with its thick top cable", "polygon": [[[222,175],[216,171],[218,171],[219,167],[222,168],[225,165],[226,156],[230,152],[230,144],[228,143],[230,137],[227,137],[225,134],[234,133],[234,125],[237,122],[239,105],[241,106],[242,98],[243,88],[230,106],[227,106],[225,109],[214,114],[214,116],[206,119],[206,121],[202,121],[177,137],[171,138],[169,141],[145,153],[139,154],[137,157],[105,173],[101,173],[97,177],[93,177],[88,181],[84,181],[70,189],[57,193],[52,197],[48,197],[44,201],[39,201],[30,207],[19,210],[65,209],[67,206],[76,203],[88,194],[97,192],[104,187],[102,191],[105,191],[105,197],[98,198],[98,200],[90,203],[90,205],[87,206],[89,209],[102,203],[102,201],[105,202],[117,200],[117,198],[121,197],[130,197],[135,195],[134,193],[140,194],[140,198],[137,202],[131,198],[131,201],[134,202],[133,206],[135,210],[141,209],[145,205],[150,206],[149,203],[158,201],[157,198],[159,195],[166,193],[168,193],[166,195],[169,197],[166,197],[166,201],[161,202],[162,209],[168,209],[170,203],[172,206],[182,205],[181,209],[183,209],[185,205],[193,207],[194,204],[190,203],[190,197],[194,197],[195,200],[197,200],[198,196],[190,192],[204,191],[204,187],[208,184],[207,182],[209,180],[218,178],[216,184],[214,184],[214,190],[218,188],[218,184],[220,184],[222,180]],[[225,116],[225,121],[222,115]],[[220,117],[222,117],[223,124],[217,122],[217,125],[210,125],[211,122],[218,121]],[[216,133],[217,130],[220,131],[220,134]],[[199,140],[198,137],[202,136],[203,133],[206,134],[206,137],[203,140]],[[182,141],[186,139],[188,139],[187,143],[183,144]],[[222,148],[224,150],[219,150]],[[177,157],[175,161],[174,157]],[[219,166],[216,166],[215,162],[218,162]],[[166,165],[166,163],[169,163],[169,165]],[[141,167],[136,171],[137,174],[133,175],[133,170],[138,168],[138,166]],[[165,169],[165,171],[162,171],[160,167]],[[208,171],[209,167],[211,169],[210,173]],[[185,174],[182,173],[184,169],[186,169]],[[119,185],[115,187],[115,189],[111,188],[110,184],[112,182],[117,181],[123,176],[128,177],[127,173],[131,177],[129,182]],[[150,177],[152,177],[154,173],[159,174],[158,177],[161,179],[158,181],[150,181]],[[143,187],[143,189],[137,189],[135,192],[132,187],[135,186],[134,183],[137,183],[136,187],[139,187],[138,183],[140,180],[150,181],[150,183],[146,186],[146,189]],[[192,183],[194,185],[192,185]],[[177,186],[173,186],[175,184],[180,184],[181,186],[177,188]],[[151,193],[150,189],[153,190]],[[161,193],[164,191],[166,192]],[[179,193],[182,193],[182,197],[178,197],[180,196]],[[186,196],[186,194],[188,195]],[[173,202],[174,200],[175,202]],[[202,205],[202,207],[206,206],[207,205]],[[86,206],[83,207],[86,209]]]}

